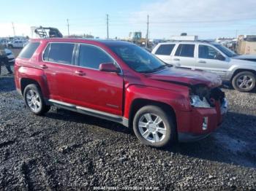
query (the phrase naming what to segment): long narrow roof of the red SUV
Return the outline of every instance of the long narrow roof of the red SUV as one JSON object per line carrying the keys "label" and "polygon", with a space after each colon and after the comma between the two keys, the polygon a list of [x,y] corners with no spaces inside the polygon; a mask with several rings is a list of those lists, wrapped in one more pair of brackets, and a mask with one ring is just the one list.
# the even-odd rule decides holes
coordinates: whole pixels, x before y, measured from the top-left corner
{"label": "long narrow roof of the red SUV", "polygon": [[81,38],[48,38],[48,39],[31,39],[32,42],[75,42],[110,45],[131,45],[131,42],[108,39],[81,39]]}

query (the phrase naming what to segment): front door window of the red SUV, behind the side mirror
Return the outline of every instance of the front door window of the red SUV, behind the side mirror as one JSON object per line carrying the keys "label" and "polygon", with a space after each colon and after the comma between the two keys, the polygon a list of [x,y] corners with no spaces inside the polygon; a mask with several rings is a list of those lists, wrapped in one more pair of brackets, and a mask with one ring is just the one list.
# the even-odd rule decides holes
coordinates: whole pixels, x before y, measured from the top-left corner
{"label": "front door window of the red SUV, behind the side mirror", "polygon": [[99,64],[114,63],[114,61],[106,52],[98,47],[80,44],[78,63],[79,66],[84,66],[90,69],[99,69]]}

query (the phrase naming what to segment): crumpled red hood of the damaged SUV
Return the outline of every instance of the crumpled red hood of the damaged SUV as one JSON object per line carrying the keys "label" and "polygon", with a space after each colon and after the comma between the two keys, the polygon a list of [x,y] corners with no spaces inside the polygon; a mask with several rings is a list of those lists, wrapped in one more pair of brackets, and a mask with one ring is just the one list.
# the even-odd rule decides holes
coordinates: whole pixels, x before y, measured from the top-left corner
{"label": "crumpled red hood of the damaged SUV", "polygon": [[205,84],[208,87],[218,87],[222,85],[222,80],[217,74],[211,72],[181,69],[181,68],[169,68],[155,73],[146,74],[146,77],[150,79],[156,79],[164,82],[173,82],[181,85],[199,85]]}

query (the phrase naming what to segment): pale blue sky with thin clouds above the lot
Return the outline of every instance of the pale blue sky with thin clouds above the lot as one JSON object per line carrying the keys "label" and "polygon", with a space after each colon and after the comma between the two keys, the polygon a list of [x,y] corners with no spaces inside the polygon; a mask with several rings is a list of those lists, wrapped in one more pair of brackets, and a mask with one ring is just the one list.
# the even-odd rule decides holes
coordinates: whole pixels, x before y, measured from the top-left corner
{"label": "pale blue sky with thin clouds above the lot", "polygon": [[94,1],[2,1],[0,36],[31,36],[31,26],[52,26],[67,35],[92,34],[105,38],[106,14],[110,38],[126,37],[129,31],[146,36],[149,15],[150,38],[170,38],[187,32],[200,39],[236,34],[256,34],[256,0],[94,0]]}

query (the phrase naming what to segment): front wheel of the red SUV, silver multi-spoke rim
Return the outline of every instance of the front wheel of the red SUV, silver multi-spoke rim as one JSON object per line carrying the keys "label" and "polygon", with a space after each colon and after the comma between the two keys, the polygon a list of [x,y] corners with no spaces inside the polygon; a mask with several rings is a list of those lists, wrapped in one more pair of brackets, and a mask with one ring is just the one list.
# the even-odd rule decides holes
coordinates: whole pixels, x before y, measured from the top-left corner
{"label": "front wheel of the red SUV, silver multi-spoke rim", "polygon": [[175,140],[173,118],[158,106],[143,106],[135,114],[133,130],[142,144],[165,147]]}

